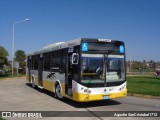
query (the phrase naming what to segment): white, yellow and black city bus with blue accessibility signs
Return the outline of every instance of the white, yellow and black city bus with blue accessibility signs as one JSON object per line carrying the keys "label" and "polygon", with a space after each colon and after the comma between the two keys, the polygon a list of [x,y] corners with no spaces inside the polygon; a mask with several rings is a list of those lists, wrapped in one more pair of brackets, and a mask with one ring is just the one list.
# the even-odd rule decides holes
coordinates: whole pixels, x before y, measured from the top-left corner
{"label": "white, yellow and black city bus with blue accessibility signs", "polygon": [[32,87],[78,102],[125,97],[125,44],[111,39],[79,38],[44,46],[27,55]]}

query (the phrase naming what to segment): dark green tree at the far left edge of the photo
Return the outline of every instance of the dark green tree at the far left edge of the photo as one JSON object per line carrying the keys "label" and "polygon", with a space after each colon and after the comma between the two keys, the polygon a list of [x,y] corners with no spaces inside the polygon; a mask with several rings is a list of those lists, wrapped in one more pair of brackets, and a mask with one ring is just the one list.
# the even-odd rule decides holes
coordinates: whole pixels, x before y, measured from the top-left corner
{"label": "dark green tree at the far left edge of the photo", "polygon": [[3,68],[3,65],[8,65],[8,52],[7,50],[0,46],[0,68]]}

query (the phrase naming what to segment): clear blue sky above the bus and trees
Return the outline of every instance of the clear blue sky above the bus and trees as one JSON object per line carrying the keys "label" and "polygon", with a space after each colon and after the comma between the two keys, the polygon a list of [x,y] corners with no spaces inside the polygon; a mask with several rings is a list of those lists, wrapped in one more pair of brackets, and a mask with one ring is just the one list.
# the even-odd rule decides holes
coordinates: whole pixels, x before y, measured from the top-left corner
{"label": "clear blue sky above the bus and trees", "polygon": [[125,42],[127,60],[160,61],[160,0],[0,0],[0,45],[12,55],[76,38]]}

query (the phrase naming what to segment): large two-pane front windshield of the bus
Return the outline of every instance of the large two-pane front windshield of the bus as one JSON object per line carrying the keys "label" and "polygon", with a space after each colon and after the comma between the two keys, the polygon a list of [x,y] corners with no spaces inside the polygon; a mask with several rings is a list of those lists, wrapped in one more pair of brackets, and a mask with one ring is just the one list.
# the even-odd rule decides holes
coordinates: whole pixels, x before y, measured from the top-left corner
{"label": "large two-pane front windshield of the bus", "polygon": [[82,83],[117,82],[124,79],[124,55],[82,54]]}

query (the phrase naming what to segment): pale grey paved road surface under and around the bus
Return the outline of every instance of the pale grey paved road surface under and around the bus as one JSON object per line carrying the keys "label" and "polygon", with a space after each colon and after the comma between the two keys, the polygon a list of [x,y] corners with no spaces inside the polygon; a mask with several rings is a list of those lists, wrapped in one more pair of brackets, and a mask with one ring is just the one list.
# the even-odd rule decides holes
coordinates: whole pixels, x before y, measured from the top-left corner
{"label": "pale grey paved road surface under and around the bus", "polygon": [[[53,93],[49,91],[33,89],[25,79],[0,80],[0,111],[90,111],[91,114],[94,114],[94,111],[160,111],[160,99],[128,96],[109,101],[77,103],[67,98],[63,100],[57,100],[53,96]],[[17,120],[17,118],[7,119]],[[57,117],[44,117],[36,119],[52,120],[57,119]],[[58,119],[81,120],[82,118],[58,117]],[[83,119],[114,120],[117,119],[117,117],[101,117],[95,115],[95,117],[83,117]],[[123,117],[123,119],[150,120],[158,118]]]}

